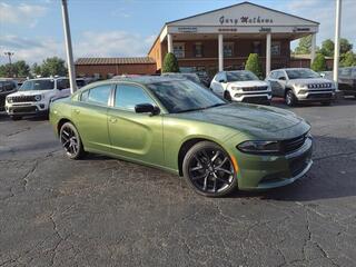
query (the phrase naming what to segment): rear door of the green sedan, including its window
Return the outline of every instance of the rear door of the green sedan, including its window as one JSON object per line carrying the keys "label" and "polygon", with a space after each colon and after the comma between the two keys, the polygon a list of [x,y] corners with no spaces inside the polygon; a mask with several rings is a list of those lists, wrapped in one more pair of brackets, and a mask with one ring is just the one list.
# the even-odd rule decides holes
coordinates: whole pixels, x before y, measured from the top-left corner
{"label": "rear door of the green sedan, including its window", "polygon": [[71,110],[73,123],[88,150],[111,152],[107,115],[110,95],[110,83],[92,87],[81,92]]}

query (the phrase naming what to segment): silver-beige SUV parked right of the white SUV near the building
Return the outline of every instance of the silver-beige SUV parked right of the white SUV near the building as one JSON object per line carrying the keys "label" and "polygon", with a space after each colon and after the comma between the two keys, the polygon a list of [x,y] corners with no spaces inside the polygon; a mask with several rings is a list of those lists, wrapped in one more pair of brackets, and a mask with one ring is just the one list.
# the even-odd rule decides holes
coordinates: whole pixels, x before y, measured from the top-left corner
{"label": "silver-beige SUV parked right of the white SUV near the building", "polygon": [[327,106],[335,99],[335,83],[307,68],[273,70],[266,78],[274,97],[283,97],[288,106],[298,101],[322,102]]}

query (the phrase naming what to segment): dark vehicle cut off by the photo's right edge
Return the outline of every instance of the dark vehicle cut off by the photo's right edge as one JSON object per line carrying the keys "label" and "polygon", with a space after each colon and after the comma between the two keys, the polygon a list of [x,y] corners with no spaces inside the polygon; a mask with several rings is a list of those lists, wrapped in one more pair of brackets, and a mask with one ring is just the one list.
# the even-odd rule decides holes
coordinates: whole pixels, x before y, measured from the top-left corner
{"label": "dark vehicle cut off by the photo's right edge", "polygon": [[338,90],[344,96],[354,96],[356,98],[356,67],[345,67],[339,69]]}

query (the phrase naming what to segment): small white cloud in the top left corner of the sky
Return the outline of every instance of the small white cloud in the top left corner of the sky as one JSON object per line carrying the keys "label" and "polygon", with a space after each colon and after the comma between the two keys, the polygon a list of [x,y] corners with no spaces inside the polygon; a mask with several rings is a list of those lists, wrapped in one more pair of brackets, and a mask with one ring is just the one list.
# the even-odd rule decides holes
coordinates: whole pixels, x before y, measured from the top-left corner
{"label": "small white cloud in the top left corner of the sky", "polygon": [[36,27],[38,19],[47,13],[42,6],[21,3],[17,6],[0,2],[0,23],[22,24]]}

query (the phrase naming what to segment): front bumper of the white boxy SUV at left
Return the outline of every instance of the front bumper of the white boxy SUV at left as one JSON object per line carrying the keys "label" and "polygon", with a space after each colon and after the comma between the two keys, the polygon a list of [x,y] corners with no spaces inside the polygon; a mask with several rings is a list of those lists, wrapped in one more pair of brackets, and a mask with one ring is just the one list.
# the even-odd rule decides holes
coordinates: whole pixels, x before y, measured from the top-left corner
{"label": "front bumper of the white boxy SUV at left", "polygon": [[42,116],[48,113],[48,105],[44,102],[7,103],[6,111],[9,116]]}

